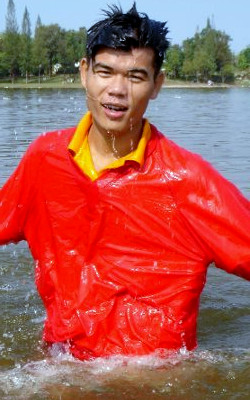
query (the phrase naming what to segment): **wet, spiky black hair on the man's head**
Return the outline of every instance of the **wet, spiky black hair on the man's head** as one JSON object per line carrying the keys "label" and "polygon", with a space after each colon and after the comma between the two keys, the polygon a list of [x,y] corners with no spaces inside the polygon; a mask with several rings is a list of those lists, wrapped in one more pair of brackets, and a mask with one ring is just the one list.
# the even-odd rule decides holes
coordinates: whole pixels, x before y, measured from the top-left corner
{"label": "wet, spiky black hair on the man's head", "polygon": [[135,2],[127,13],[123,13],[121,7],[116,5],[109,6],[109,10],[103,12],[106,18],[94,24],[87,33],[88,62],[94,59],[101,47],[124,51],[147,47],[154,51],[154,68],[157,75],[169,47],[166,22],[154,21],[149,19],[147,14],[138,13]]}

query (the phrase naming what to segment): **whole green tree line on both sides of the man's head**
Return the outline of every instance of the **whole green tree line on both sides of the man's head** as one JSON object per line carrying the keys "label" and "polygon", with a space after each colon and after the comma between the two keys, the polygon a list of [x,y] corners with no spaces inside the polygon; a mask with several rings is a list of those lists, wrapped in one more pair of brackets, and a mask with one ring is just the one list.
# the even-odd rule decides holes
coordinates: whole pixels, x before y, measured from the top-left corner
{"label": "whole green tree line on both sides of the man's head", "polygon": [[[26,77],[56,73],[75,74],[85,55],[87,31],[65,30],[58,24],[43,25],[38,16],[34,35],[27,7],[21,29],[18,27],[14,0],[8,1],[6,28],[0,34],[0,77]],[[166,53],[164,70],[169,79],[230,82],[239,72],[249,74],[250,46],[234,55],[231,38],[216,30],[210,19],[200,32],[172,45]]]}

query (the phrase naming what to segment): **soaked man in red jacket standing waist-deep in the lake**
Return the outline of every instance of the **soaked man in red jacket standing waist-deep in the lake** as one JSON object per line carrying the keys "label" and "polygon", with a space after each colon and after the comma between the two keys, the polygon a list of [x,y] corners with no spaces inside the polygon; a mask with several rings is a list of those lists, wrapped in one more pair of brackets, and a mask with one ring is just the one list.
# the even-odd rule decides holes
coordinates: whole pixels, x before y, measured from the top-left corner
{"label": "soaked man in red jacket standing waist-deep in the lake", "polygon": [[249,201],[143,119],[166,34],[111,7],[81,63],[89,112],[38,138],[2,189],[0,243],[29,243],[44,340],[80,359],[194,349],[209,264],[250,279]]}

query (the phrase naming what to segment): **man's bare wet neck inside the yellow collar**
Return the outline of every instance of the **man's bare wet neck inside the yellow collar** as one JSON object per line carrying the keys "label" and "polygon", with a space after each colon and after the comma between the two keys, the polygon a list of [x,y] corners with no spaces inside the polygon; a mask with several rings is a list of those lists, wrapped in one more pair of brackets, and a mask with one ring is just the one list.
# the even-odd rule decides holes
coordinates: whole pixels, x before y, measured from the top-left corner
{"label": "man's bare wet neck inside the yellow collar", "polygon": [[90,153],[97,171],[111,162],[126,156],[135,150],[141,138],[142,126],[136,131],[129,130],[120,135],[115,132],[100,131],[94,124],[88,136]]}

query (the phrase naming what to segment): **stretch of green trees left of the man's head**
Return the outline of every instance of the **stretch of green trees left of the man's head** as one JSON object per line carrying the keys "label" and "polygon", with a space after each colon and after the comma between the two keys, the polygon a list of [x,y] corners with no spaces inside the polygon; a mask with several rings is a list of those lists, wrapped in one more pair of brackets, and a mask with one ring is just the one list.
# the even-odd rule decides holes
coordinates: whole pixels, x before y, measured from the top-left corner
{"label": "stretch of green trees left of the man's head", "polygon": [[0,34],[0,77],[76,73],[85,55],[86,36],[84,27],[67,31],[58,24],[43,25],[40,16],[32,36],[27,7],[19,30],[14,1],[9,0],[6,28]]}

